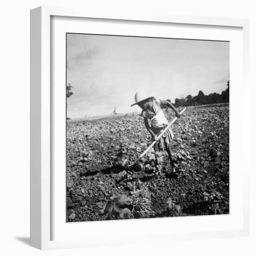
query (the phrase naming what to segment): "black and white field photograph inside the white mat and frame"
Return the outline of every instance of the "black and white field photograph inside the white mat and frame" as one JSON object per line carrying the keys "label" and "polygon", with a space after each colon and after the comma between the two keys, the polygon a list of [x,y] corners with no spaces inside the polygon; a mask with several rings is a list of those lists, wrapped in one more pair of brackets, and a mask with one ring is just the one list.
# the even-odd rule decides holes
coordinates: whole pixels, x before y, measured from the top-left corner
{"label": "black and white field photograph inside the white mat and frame", "polygon": [[66,34],[66,221],[229,214],[229,41]]}

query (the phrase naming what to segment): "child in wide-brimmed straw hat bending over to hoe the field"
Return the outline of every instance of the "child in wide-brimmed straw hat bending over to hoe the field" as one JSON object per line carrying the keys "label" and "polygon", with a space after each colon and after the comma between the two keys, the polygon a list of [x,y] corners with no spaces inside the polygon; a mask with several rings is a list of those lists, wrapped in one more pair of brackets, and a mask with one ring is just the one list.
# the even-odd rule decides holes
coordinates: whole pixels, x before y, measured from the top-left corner
{"label": "child in wide-brimmed straw hat bending over to hoe the field", "polygon": [[[153,96],[146,98],[145,96],[143,97],[140,92],[136,92],[135,103],[131,105],[131,107],[134,105],[138,105],[142,109],[141,116],[144,117],[145,126],[150,135],[152,136],[152,141],[156,140],[157,136],[168,125],[168,121],[161,109],[161,104],[167,105],[175,112],[175,115],[180,118],[180,112],[169,101],[156,100]],[[149,125],[148,120],[150,120],[151,125]],[[164,144],[164,147],[168,153],[171,162],[173,172],[175,172],[175,167],[172,161],[172,150],[170,143],[173,137],[174,135],[172,129],[168,128],[168,130],[165,132],[164,135],[162,135],[159,141],[155,143],[155,151],[159,151],[161,145]]]}

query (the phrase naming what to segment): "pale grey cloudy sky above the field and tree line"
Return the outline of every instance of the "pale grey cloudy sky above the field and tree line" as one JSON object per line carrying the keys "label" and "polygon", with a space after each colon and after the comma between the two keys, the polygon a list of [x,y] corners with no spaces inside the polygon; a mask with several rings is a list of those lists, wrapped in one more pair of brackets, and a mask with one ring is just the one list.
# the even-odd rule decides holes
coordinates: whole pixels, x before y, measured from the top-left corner
{"label": "pale grey cloudy sky above the field and tree line", "polygon": [[67,34],[67,117],[139,111],[137,91],[172,102],[221,93],[229,79],[229,42]]}

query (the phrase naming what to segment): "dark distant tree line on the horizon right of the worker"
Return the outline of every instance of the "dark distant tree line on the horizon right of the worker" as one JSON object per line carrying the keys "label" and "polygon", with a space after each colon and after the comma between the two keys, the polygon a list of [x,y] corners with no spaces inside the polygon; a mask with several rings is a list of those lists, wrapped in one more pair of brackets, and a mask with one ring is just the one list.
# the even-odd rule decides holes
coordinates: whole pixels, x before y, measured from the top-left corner
{"label": "dark distant tree line on the horizon right of the worker", "polygon": [[[196,106],[196,105],[205,105],[205,104],[216,104],[216,103],[224,103],[229,102],[229,81],[227,82],[228,88],[222,91],[221,94],[211,93],[205,95],[201,90],[198,92],[196,96],[192,96],[189,94],[185,98],[175,99],[174,104],[175,107],[185,107],[185,106]],[[169,99],[167,100],[171,102]],[[162,106],[165,108],[166,106]]]}

